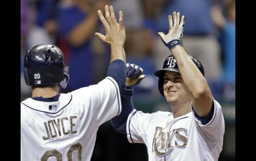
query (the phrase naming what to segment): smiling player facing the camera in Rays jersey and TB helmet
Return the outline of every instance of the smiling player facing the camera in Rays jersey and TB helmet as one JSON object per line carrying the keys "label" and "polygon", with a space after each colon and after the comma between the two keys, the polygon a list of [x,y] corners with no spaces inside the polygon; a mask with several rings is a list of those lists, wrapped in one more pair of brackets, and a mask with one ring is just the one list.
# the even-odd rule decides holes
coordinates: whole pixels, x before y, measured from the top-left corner
{"label": "smiling player facing the camera in Rays jersey and TB helmet", "polygon": [[154,74],[159,77],[159,92],[173,112],[145,114],[134,109],[132,86],[141,81],[143,70],[126,64],[123,110],[111,119],[113,127],[127,134],[130,143],[146,144],[150,161],[217,161],[222,150],[221,106],[211,95],[202,64],[183,48],[184,23],[184,16],[180,21],[180,13],[173,12],[173,20],[169,15],[169,33],[158,33],[173,54]]}

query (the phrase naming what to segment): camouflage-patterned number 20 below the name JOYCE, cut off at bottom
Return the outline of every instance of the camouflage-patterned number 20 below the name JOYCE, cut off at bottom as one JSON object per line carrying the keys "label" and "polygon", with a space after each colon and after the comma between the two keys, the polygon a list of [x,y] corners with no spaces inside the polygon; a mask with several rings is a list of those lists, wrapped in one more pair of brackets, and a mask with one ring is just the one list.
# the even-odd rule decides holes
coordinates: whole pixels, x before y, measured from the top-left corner
{"label": "camouflage-patterned number 20 below the name JOYCE, cut off at bottom", "polygon": [[[76,143],[72,145],[69,150],[67,151],[67,160],[72,161],[72,153],[78,150],[78,160],[81,161],[82,158],[82,145],[80,143]],[[57,161],[62,161],[62,153],[58,150],[50,150],[46,151],[45,154],[42,156],[41,161],[47,161],[50,157],[56,157]]]}

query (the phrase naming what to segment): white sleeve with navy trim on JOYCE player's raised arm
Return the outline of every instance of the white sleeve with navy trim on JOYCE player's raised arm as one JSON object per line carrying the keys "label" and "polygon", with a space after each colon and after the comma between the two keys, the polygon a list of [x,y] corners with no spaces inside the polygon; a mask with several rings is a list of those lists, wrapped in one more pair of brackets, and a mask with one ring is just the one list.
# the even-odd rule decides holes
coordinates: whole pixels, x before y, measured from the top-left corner
{"label": "white sleeve with navy trim on JOYCE player's raised arm", "polygon": [[71,93],[86,100],[84,104],[94,111],[95,116],[91,117],[95,117],[98,126],[121,113],[120,91],[112,77],[106,77],[96,85],[80,88]]}

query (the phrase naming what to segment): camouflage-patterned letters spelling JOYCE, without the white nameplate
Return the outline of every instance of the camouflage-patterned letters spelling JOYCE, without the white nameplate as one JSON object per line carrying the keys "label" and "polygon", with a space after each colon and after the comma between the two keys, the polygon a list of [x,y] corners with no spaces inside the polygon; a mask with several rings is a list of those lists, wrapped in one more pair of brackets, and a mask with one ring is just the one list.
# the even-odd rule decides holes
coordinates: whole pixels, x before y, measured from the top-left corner
{"label": "camouflage-patterned letters spelling JOYCE, without the white nameplate", "polygon": [[[69,118],[62,117],[59,119],[53,119],[49,120],[48,122],[44,122],[47,136],[43,136],[43,139],[47,140],[50,139],[50,137],[54,138],[57,137],[58,134],[59,136],[62,136],[62,133],[64,135],[76,133],[76,131],[73,131],[73,126],[75,126],[75,123],[73,123],[73,119],[77,119],[77,116],[70,116]],[[69,121],[69,123],[66,123],[66,121]],[[68,124],[68,126],[64,126],[65,124]]]}

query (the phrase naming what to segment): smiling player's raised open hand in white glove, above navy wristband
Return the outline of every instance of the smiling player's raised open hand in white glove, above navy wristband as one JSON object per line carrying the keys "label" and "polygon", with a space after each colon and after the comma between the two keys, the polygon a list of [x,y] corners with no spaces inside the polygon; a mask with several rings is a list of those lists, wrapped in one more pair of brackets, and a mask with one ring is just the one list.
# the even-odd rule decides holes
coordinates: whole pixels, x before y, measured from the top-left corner
{"label": "smiling player's raised open hand in white glove, above navy wristband", "polygon": [[169,19],[169,33],[167,35],[165,35],[162,32],[158,33],[158,35],[161,37],[165,45],[172,40],[182,41],[183,27],[185,25],[185,16],[183,15],[180,21],[180,12],[176,14],[176,11],[174,11],[173,19],[171,15],[168,16],[168,19]]}

